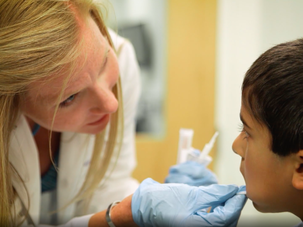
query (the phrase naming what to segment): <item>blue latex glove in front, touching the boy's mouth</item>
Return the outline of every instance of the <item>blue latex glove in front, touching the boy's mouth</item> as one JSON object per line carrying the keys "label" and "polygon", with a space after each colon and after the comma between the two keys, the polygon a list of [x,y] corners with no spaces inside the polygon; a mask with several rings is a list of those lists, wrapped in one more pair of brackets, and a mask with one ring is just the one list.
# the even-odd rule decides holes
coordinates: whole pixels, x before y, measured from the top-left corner
{"label": "blue latex glove in front, touching the boy's mouth", "polygon": [[[245,202],[245,186],[160,184],[145,179],[132,196],[132,216],[140,227],[235,227]],[[212,207],[210,213],[201,211]]]}

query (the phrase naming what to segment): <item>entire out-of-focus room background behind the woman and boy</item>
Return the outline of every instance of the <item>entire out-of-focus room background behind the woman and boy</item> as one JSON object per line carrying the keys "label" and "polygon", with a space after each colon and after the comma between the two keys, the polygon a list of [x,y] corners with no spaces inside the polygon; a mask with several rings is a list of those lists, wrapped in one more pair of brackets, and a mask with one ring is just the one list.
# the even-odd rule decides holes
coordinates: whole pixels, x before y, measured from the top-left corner
{"label": "entire out-of-focus room background behind the woman and boy", "polygon": [[[141,67],[134,177],[163,182],[176,163],[179,129],[202,149],[218,130],[210,166],[222,184],[245,184],[238,135],[241,83],[271,46],[303,36],[301,0],[110,0],[108,25],[132,41]],[[239,226],[293,226],[292,214],[262,214],[248,201]]]}

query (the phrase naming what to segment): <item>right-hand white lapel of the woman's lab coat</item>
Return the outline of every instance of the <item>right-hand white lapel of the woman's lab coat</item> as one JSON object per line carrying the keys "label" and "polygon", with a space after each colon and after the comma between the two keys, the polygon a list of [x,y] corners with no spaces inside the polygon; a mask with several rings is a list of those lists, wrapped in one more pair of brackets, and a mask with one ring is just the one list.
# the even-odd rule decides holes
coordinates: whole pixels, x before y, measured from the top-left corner
{"label": "right-hand white lapel of the woman's lab coat", "polygon": [[[57,181],[58,209],[66,206],[81,188],[92,156],[95,137],[88,134],[65,132],[61,135],[59,173]],[[75,214],[76,204],[58,212],[60,224]]]}

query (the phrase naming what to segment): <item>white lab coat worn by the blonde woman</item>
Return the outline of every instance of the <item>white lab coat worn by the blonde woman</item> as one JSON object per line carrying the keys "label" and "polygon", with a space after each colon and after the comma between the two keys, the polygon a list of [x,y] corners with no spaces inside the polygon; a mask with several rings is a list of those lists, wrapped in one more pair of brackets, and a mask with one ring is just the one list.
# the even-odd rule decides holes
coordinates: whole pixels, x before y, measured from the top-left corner
{"label": "white lab coat worn by the blonde woman", "polygon": [[[110,35],[118,53],[124,105],[124,138],[117,165],[106,183],[98,188],[91,200],[88,213],[102,211],[115,200],[122,200],[132,194],[138,182],[131,177],[136,166],[135,158],[135,113],[140,95],[139,67],[132,44],[117,36]],[[88,139],[89,137],[89,139]],[[87,143],[87,141],[89,142]],[[81,133],[62,133],[57,178],[57,208],[66,205],[79,191],[88,170],[95,137]],[[87,146],[88,144],[88,146]],[[39,225],[41,206],[41,176],[37,146],[24,116],[17,122],[12,132],[9,160],[23,179],[29,195],[29,215],[35,225]],[[28,206],[26,192],[13,177],[13,186],[21,198],[15,199],[16,214],[22,214],[22,204]],[[58,222],[64,226],[87,226],[91,215],[83,215],[81,202],[73,203],[58,212]],[[23,212],[24,213],[24,212]],[[22,216],[22,215],[21,215]],[[22,217],[20,217],[22,218]],[[27,219],[24,225],[30,225]]]}

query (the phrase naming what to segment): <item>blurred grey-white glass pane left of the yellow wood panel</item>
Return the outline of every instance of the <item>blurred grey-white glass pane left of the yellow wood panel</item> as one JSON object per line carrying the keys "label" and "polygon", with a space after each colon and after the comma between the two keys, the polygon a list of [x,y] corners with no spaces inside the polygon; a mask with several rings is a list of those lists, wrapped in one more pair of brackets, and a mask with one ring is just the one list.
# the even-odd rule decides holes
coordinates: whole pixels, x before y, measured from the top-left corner
{"label": "blurred grey-white glass pane left of the yellow wood panel", "polygon": [[141,69],[142,94],[138,106],[138,133],[164,136],[163,102],[167,66],[167,1],[110,0],[108,26],[129,39]]}

